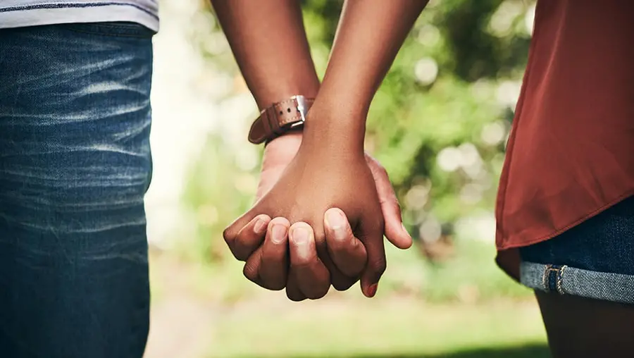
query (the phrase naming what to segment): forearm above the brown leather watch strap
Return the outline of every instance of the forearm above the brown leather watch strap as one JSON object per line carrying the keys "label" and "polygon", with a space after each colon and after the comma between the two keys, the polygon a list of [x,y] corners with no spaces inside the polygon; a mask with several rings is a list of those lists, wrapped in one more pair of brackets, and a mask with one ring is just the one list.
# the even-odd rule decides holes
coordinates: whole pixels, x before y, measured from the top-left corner
{"label": "forearm above the brown leather watch strap", "polygon": [[298,0],[213,0],[259,109],[294,94],[315,97],[319,79]]}

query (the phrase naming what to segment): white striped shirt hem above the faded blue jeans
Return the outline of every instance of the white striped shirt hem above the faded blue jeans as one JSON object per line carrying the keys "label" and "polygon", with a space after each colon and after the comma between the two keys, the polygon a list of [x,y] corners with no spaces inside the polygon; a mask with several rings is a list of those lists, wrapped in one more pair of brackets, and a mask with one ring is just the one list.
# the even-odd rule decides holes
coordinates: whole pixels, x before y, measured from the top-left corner
{"label": "white striped shirt hem above the faded blue jeans", "polygon": [[159,30],[157,0],[0,0],[0,28],[130,21]]}

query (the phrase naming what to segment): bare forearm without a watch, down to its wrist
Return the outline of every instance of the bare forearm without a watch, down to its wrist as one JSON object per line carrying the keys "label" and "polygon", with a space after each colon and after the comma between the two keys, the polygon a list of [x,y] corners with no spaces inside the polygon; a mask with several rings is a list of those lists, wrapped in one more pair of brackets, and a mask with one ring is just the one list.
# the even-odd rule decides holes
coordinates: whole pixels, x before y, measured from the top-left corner
{"label": "bare forearm without a watch, down to its wrist", "polygon": [[407,34],[428,1],[363,0],[344,4],[330,61],[314,111],[329,113],[306,122],[321,140],[339,139],[363,148],[370,103]]}

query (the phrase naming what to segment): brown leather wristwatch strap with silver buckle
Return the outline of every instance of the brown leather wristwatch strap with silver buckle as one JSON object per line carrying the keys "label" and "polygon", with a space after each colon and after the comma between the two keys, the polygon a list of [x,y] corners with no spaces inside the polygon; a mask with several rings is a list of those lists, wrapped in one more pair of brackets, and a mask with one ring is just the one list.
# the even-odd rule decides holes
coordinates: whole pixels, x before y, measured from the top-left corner
{"label": "brown leather wristwatch strap with silver buckle", "polygon": [[306,121],[306,113],[311,108],[313,101],[312,98],[298,94],[285,101],[275,102],[263,109],[260,116],[251,125],[249,142],[260,144],[273,140],[289,130],[301,127]]}

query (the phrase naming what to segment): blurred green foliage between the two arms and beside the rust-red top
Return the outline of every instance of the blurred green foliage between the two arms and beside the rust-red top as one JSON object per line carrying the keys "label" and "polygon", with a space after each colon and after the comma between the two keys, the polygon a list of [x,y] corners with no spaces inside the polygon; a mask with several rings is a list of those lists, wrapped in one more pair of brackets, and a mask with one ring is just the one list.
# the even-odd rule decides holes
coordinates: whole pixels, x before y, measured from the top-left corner
{"label": "blurred green foliage between the two arms and beside the rust-red top", "polygon": [[[313,58],[323,73],[341,4],[303,3]],[[414,228],[430,213],[450,228],[475,209],[492,209],[506,141],[499,135],[483,140],[483,131],[495,132],[497,124],[506,135],[512,106],[496,97],[500,83],[521,79],[530,4],[431,1],[376,94],[367,147],[390,173]],[[443,149],[449,149],[445,166],[455,170],[437,165]],[[420,190],[407,200],[413,187]]]}

